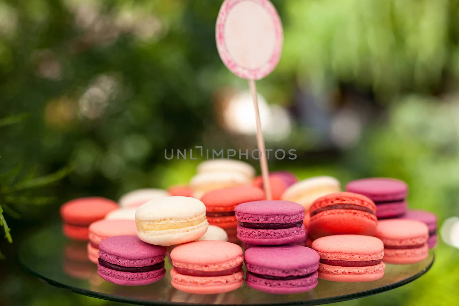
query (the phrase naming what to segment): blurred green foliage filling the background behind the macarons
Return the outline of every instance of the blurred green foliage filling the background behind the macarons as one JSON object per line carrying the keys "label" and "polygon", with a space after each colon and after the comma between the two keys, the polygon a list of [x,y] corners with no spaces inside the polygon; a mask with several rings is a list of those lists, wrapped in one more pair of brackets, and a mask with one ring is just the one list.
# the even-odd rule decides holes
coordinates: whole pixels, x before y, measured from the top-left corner
{"label": "blurred green foliage filling the background behind the macarons", "polygon": [[[373,111],[365,113],[357,145],[331,153],[322,151],[304,122],[294,122],[281,145],[297,148],[299,158],[272,161],[271,169],[291,170],[300,178],[329,174],[342,184],[365,176],[401,178],[410,186],[409,206],[434,211],[440,223],[458,216],[459,1],[273,3],[285,39],[279,66],[257,82],[266,100],[291,107],[298,118],[302,92],[340,96],[346,84],[367,94],[358,106]],[[0,1],[0,118],[7,118],[0,120],[0,173],[36,165],[41,177],[75,165],[60,188],[37,190],[54,196],[55,206],[23,205],[26,195],[20,190],[10,199],[22,211],[20,220],[6,218],[18,240],[56,219],[57,203],[73,197],[118,199],[134,188],[186,184],[197,161],[166,161],[165,148],[245,149],[255,143],[228,135],[217,123],[219,93],[247,88],[218,58],[214,27],[220,4]],[[330,114],[349,103],[325,102],[319,107]],[[21,120],[22,113],[29,114],[27,120],[2,127]],[[345,304],[456,304],[457,258],[458,250],[440,243],[424,277]],[[1,271],[8,284],[2,288],[5,303],[107,303],[56,290],[17,271]],[[22,294],[34,291],[38,295]]]}

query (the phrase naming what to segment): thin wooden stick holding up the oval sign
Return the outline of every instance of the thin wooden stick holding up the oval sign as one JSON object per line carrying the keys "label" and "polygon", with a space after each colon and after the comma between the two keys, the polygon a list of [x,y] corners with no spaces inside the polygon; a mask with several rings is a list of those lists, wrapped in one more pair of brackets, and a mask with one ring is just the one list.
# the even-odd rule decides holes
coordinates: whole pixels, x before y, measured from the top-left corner
{"label": "thin wooden stick holding up the oval sign", "polygon": [[254,80],[249,80],[250,92],[252,93],[253,108],[255,109],[255,121],[257,122],[257,144],[258,150],[261,151],[260,167],[261,176],[263,178],[264,194],[266,200],[272,200],[271,184],[269,184],[268,160],[266,159],[266,150],[264,147],[263,133],[261,130],[260,111],[258,110],[257,86]]}

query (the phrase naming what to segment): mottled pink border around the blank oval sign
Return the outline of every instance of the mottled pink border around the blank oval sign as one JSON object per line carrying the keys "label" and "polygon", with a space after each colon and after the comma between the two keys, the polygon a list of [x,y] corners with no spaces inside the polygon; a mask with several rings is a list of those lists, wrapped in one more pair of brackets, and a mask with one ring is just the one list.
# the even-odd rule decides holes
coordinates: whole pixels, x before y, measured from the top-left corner
{"label": "mottled pink border around the blank oval sign", "polygon": [[[263,67],[259,67],[257,69],[248,69],[239,66],[230,56],[225,44],[224,28],[229,11],[231,11],[231,9],[237,4],[245,1],[255,2],[263,6],[263,8],[269,13],[271,20],[274,23],[275,45],[273,53],[269,57],[269,60],[263,65]],[[220,58],[222,59],[225,66],[228,67],[228,69],[238,77],[248,80],[259,80],[271,73],[279,62],[280,53],[282,51],[283,37],[284,34],[282,31],[282,23],[280,22],[279,14],[277,13],[273,4],[268,0],[225,0],[220,7],[220,11],[218,12],[217,17],[217,24],[215,27],[215,38],[217,41],[218,54],[220,55]]]}

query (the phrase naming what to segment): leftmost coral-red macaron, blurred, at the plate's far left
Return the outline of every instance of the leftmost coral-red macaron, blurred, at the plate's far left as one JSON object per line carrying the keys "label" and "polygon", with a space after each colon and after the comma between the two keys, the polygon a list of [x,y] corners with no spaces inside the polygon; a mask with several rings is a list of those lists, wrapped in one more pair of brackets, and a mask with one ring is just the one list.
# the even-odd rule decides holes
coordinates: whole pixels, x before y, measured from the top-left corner
{"label": "leftmost coral-red macaron, blurred, at the plate's far left", "polygon": [[60,209],[64,223],[62,231],[68,238],[88,241],[89,225],[103,219],[106,214],[118,207],[116,202],[101,197],[70,200]]}

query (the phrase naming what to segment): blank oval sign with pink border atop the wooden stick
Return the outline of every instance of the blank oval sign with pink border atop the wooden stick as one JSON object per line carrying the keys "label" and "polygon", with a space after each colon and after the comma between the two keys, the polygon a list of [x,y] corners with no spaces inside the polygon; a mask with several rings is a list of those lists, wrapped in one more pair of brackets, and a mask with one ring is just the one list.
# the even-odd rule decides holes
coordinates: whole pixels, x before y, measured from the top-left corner
{"label": "blank oval sign with pink border atop the wooden stick", "polygon": [[268,0],[225,0],[215,32],[218,54],[235,75],[259,80],[277,66],[284,34]]}

